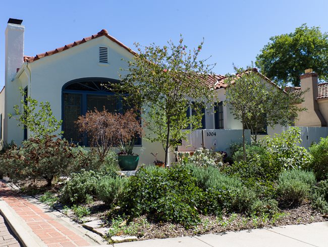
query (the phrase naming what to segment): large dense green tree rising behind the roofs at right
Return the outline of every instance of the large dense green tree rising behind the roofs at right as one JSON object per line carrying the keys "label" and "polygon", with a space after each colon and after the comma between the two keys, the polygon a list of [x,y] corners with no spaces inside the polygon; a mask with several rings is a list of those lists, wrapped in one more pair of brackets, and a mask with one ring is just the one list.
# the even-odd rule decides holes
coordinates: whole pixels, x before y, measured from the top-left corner
{"label": "large dense green tree rising behind the roofs at right", "polygon": [[256,56],[260,72],[280,85],[300,85],[300,75],[305,69],[313,69],[319,80],[328,79],[328,34],[319,27],[306,24],[289,34],[270,38]]}

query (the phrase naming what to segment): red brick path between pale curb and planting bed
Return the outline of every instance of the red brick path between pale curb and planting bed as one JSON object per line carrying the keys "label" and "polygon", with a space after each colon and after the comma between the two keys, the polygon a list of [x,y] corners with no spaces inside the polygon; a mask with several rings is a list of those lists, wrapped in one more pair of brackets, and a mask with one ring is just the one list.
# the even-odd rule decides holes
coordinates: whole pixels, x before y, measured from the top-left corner
{"label": "red brick path between pale curb and planting bed", "polygon": [[[9,206],[13,208],[23,220],[25,220],[32,231],[41,238],[47,246],[61,247],[90,245],[90,243],[84,240],[81,236],[77,235],[75,232],[71,231],[45,213],[43,209],[12,192],[2,181],[0,181],[0,198],[8,203]],[[1,245],[0,241],[0,246],[6,245]]]}

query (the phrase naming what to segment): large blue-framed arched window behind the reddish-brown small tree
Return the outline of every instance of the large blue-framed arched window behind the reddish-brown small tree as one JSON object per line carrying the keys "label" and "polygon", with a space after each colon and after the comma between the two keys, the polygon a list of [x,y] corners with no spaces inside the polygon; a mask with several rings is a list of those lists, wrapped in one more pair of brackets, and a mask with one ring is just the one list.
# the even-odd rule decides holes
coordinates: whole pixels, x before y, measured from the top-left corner
{"label": "large blue-framed arched window behind the reddish-brown small tree", "polygon": [[[85,78],[68,82],[63,87],[62,119],[64,137],[68,141],[88,146],[86,135],[81,135],[75,121],[88,110],[95,108],[102,111],[123,113],[126,108],[122,98],[108,90],[105,86],[108,82],[119,81],[106,78]],[[141,145],[141,138],[137,138],[136,145]]]}

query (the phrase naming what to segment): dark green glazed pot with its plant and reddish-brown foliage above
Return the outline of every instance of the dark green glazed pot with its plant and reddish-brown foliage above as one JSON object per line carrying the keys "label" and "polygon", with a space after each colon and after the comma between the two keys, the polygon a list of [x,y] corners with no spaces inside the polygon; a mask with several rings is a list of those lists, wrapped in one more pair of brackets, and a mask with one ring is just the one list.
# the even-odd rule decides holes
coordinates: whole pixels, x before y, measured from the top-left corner
{"label": "dark green glazed pot with its plant and reddish-brown foliage above", "polygon": [[139,155],[133,153],[135,138],[142,136],[142,127],[133,110],[120,115],[120,152],[118,153],[119,166],[123,171],[135,170],[138,166]]}

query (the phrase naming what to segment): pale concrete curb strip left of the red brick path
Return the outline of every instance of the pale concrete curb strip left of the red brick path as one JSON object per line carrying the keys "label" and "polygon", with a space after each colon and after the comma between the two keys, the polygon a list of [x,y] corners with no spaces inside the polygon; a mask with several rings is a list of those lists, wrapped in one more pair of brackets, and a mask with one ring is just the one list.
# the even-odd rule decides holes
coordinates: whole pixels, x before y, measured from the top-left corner
{"label": "pale concrete curb strip left of the red brick path", "polygon": [[10,206],[0,199],[0,213],[6,219],[9,227],[24,247],[46,246]]}

